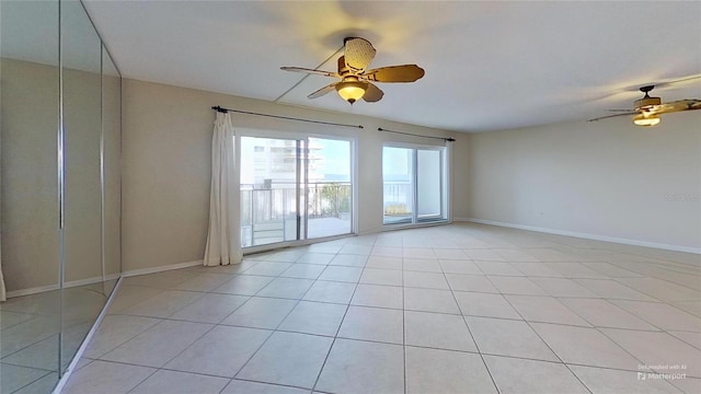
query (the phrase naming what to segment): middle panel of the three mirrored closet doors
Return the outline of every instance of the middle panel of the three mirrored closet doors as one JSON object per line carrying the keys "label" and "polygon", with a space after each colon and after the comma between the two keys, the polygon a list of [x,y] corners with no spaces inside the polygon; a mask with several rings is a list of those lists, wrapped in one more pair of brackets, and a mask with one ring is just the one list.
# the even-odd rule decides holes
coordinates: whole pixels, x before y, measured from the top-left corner
{"label": "middle panel of the three mirrored closet doors", "polygon": [[60,2],[65,371],[106,302],[102,265],[102,43],[80,1]]}

